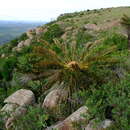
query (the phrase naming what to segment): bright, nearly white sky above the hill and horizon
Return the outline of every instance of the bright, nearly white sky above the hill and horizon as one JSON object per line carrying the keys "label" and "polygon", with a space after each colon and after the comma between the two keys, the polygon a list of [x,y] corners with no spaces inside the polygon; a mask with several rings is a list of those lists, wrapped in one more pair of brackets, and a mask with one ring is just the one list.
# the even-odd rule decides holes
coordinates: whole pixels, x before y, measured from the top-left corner
{"label": "bright, nearly white sky above the hill and horizon", "polygon": [[50,21],[87,9],[130,6],[129,0],[1,0],[0,20]]}

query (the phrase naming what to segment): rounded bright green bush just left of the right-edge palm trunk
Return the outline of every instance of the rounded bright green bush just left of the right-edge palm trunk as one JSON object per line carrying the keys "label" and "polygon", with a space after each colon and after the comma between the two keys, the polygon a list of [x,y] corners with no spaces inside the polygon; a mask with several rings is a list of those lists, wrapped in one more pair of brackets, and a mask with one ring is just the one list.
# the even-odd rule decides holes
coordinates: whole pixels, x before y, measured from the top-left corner
{"label": "rounded bright green bush just left of the right-edge palm trunk", "polygon": [[112,33],[103,41],[106,45],[116,45],[119,50],[127,49],[127,38],[122,34]]}

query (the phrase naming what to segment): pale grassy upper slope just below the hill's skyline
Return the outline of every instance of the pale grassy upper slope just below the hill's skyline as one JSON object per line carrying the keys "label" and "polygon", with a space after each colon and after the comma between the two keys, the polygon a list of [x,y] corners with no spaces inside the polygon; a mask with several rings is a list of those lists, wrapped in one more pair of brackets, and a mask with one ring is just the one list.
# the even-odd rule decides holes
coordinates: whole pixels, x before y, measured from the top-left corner
{"label": "pale grassy upper slope just below the hill's skyline", "polygon": [[[62,38],[64,42],[75,42],[79,32],[92,35],[93,39],[90,41],[95,41],[103,38],[104,35],[102,36],[102,33],[104,32],[116,31],[124,34],[124,29],[119,24],[123,14],[129,16],[130,7],[107,8],[64,14],[63,16],[59,16],[53,24],[59,24],[65,31],[64,38]],[[98,28],[103,29],[99,31],[84,30],[84,26],[88,23],[95,24]],[[71,28],[69,29],[69,27]]]}

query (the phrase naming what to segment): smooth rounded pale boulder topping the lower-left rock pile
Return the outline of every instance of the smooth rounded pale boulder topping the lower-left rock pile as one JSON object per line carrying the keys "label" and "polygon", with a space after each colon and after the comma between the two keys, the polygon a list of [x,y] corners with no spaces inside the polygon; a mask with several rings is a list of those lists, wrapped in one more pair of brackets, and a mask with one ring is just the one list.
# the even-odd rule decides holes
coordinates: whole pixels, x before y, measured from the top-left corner
{"label": "smooth rounded pale boulder topping the lower-left rock pile", "polygon": [[4,100],[4,103],[18,104],[19,106],[35,103],[35,96],[32,91],[20,89]]}

